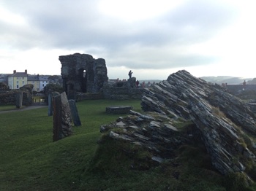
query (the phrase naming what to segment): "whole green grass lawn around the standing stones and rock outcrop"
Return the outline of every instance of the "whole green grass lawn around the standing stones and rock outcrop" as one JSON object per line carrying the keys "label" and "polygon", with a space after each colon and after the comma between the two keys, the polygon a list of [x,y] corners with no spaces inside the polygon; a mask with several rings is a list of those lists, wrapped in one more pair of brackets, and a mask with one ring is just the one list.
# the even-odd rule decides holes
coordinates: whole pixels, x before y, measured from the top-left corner
{"label": "whole green grass lawn around the standing stones and rock outcrop", "polygon": [[138,100],[80,101],[82,126],[56,142],[47,107],[0,114],[0,190],[234,190],[211,169],[206,152],[192,146],[162,165],[132,169],[138,161],[151,163],[148,152],[99,133],[101,125],[121,116],[105,113],[113,105],[142,112]]}

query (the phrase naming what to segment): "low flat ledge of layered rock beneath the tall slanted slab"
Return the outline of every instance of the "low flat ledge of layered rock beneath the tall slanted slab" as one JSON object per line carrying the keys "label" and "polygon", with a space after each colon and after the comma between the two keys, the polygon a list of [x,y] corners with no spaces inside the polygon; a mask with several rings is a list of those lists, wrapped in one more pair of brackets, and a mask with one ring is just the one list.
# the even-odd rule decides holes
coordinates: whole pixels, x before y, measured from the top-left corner
{"label": "low flat ledge of layered rock beneath the tall slanted slab", "polygon": [[151,159],[158,163],[164,158],[173,157],[174,150],[181,144],[192,141],[192,137],[174,127],[175,122],[164,114],[140,114],[134,111],[129,114],[127,117],[119,117],[109,125],[102,125],[101,133],[108,131],[113,139],[131,141],[145,147],[151,151]]}

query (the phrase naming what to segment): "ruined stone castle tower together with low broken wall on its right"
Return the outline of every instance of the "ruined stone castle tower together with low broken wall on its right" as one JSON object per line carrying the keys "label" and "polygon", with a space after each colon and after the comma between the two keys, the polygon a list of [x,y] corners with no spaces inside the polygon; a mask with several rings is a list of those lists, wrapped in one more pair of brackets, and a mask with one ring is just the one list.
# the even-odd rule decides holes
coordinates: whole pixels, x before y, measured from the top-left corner
{"label": "ruined stone castle tower together with low broken wall on its right", "polygon": [[108,82],[107,67],[103,58],[75,53],[59,56],[63,88],[68,99],[118,99],[141,98],[142,89],[136,87],[136,78],[127,82]]}

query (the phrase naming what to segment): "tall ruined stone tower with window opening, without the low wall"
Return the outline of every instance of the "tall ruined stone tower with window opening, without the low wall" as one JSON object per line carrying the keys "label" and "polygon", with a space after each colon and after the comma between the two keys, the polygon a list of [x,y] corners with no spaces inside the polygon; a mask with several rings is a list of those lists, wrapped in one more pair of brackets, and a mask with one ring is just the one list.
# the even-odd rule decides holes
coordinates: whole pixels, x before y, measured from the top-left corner
{"label": "tall ruined stone tower with window opening, without the low wall", "polygon": [[76,93],[98,93],[108,82],[108,71],[103,58],[75,53],[59,56],[63,87],[69,99],[76,99]]}

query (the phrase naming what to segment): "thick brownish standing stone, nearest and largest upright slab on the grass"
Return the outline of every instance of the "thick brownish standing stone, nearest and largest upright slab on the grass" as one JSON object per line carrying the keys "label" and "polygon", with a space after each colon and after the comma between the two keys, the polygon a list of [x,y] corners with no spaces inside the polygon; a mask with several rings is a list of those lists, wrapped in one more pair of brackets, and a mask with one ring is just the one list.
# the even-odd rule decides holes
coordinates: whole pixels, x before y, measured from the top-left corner
{"label": "thick brownish standing stone, nearest and largest upright slab on the grass", "polygon": [[66,93],[53,97],[53,141],[72,134],[72,120]]}

